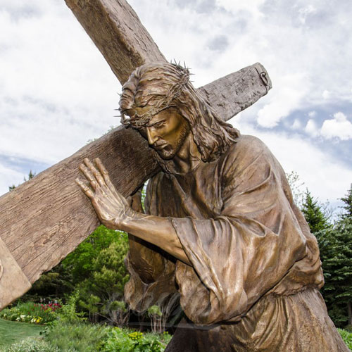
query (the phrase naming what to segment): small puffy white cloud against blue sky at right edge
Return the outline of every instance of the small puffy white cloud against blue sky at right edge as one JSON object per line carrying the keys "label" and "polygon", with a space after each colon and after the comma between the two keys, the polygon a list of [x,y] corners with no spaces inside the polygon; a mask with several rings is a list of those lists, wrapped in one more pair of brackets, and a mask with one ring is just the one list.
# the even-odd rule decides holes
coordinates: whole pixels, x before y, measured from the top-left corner
{"label": "small puffy white cloud against blue sky at right edge", "polygon": [[333,119],[323,122],[320,134],[326,139],[335,137],[341,140],[352,139],[352,123],[344,113],[334,113]]}

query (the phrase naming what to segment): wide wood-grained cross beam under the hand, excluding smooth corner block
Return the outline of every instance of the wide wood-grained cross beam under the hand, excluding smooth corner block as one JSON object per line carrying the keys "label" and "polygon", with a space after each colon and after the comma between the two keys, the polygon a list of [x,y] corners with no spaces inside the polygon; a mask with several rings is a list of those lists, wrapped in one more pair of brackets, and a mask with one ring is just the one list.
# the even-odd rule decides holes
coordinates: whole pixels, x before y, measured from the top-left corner
{"label": "wide wood-grained cross beam under the hand, excluding smooth corner block", "polygon": [[32,283],[99,225],[75,184],[85,157],[101,158],[125,196],[158,170],[139,133],[119,127],[1,196],[0,237]]}

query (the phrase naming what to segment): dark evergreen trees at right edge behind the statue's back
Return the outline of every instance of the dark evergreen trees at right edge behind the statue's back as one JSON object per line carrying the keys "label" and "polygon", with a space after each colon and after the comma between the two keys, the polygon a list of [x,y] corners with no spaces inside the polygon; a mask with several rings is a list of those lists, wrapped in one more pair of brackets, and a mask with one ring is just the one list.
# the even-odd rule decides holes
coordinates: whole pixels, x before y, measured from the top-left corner
{"label": "dark evergreen trees at right edge behind the statue's back", "polygon": [[344,201],[345,212],[330,224],[322,206],[306,191],[302,205],[310,231],[320,249],[325,285],[322,296],[337,327],[352,325],[352,190]]}

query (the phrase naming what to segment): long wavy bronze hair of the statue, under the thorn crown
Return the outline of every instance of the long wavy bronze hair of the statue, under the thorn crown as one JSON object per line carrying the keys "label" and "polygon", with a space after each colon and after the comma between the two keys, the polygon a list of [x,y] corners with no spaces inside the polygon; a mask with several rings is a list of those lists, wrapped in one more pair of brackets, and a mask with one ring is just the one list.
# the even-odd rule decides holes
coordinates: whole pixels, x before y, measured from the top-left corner
{"label": "long wavy bronze hair of the statue, under the thorn crown", "polygon": [[[147,112],[142,115],[134,110],[144,107]],[[153,115],[170,107],[189,122],[202,161],[215,160],[239,137],[239,131],[224,122],[194,89],[189,70],[180,65],[146,63],[122,87],[120,113],[125,126],[144,127]]]}

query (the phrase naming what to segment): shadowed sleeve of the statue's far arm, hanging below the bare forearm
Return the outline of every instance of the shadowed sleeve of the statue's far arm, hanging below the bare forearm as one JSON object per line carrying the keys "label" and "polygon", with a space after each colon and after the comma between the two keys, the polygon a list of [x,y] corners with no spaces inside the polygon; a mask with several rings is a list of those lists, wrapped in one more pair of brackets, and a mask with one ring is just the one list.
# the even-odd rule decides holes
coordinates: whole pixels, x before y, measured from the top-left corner
{"label": "shadowed sleeve of the statue's far arm, hanging below the bare forearm", "polygon": [[[145,208],[150,213],[153,188],[158,184],[158,177],[149,181]],[[125,284],[125,300],[130,308],[142,312],[158,304],[168,306],[172,297],[178,296],[175,287],[175,263],[170,256],[142,239],[129,234],[130,251],[125,265],[130,272],[130,281]]]}

